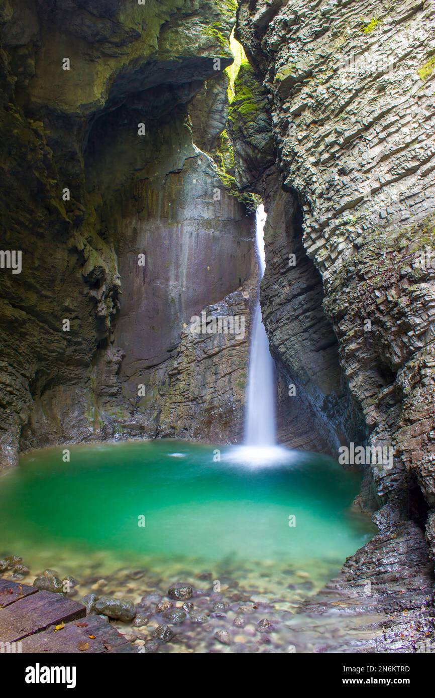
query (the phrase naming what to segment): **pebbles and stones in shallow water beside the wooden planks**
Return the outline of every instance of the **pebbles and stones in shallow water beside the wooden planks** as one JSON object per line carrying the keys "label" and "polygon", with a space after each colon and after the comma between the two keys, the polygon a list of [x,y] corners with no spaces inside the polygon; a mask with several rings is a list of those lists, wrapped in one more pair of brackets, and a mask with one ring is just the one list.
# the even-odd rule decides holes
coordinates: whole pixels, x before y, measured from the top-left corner
{"label": "pebbles and stones in shallow water beside the wooden planks", "polygon": [[138,653],[256,653],[296,651],[288,624],[339,566],[319,563],[315,580],[303,569],[267,560],[224,560],[219,572],[200,570],[198,560],[190,567],[186,559],[162,561],[161,568],[154,560],[152,571],[114,563],[103,554],[86,565],[58,556],[54,569],[30,570],[20,557],[8,556],[0,560],[0,574],[48,591],[68,588],[67,596],[107,617]]}

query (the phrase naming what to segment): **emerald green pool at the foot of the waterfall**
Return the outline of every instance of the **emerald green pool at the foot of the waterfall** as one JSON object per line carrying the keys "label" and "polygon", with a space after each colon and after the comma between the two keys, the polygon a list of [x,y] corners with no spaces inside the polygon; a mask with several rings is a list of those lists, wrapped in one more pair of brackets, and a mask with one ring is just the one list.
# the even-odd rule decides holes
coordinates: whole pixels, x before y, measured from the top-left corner
{"label": "emerald green pool at the foot of the waterfall", "polygon": [[65,463],[63,448],[0,477],[0,554],[34,574],[256,570],[267,593],[290,567],[318,588],[373,533],[351,507],[360,476],[322,456],[250,465],[221,447],[214,462],[216,447],[154,440],[71,447]]}

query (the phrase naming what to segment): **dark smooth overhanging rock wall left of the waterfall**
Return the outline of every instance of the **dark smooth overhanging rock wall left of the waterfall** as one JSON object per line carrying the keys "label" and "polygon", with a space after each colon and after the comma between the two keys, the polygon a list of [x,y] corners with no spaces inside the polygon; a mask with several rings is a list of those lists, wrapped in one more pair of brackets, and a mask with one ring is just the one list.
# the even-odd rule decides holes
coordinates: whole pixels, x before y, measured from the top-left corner
{"label": "dark smooth overhanging rock wall left of the waterfall", "polygon": [[239,438],[246,336],[186,332],[206,308],[249,328],[234,21],[232,0],[0,3],[1,249],[22,255],[0,269],[0,467],[52,443]]}

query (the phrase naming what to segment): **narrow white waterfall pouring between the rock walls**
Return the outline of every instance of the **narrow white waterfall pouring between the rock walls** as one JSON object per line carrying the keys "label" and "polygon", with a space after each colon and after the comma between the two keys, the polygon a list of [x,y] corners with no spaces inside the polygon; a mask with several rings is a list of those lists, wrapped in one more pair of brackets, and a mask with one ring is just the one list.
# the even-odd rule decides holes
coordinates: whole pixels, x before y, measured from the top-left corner
{"label": "narrow white waterfall pouring between the rock walls", "polygon": [[[263,229],[266,214],[260,205],[256,214],[256,253],[260,267],[260,281],[265,273],[265,243]],[[249,350],[249,380],[246,396],[245,443],[247,446],[273,446],[275,431],[274,362],[269,351],[269,340],[260,307],[260,294],[253,315],[251,346]]]}

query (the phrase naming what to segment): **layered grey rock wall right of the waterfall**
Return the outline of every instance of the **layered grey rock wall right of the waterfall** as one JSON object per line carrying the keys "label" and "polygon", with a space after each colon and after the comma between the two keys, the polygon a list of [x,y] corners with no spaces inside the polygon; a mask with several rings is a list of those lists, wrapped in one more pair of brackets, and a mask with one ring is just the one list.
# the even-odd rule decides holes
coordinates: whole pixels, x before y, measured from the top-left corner
{"label": "layered grey rock wall right of the waterfall", "polygon": [[[417,261],[419,251],[435,242],[434,29],[432,1],[413,0],[246,0],[239,3],[237,25],[269,99],[287,192],[279,196],[288,199],[276,214],[273,158],[269,173],[253,168],[251,181],[272,212],[262,290],[272,346],[293,383],[302,377],[318,419],[328,409],[328,395],[336,406],[341,401],[332,420],[338,440],[337,427],[347,424],[341,431],[349,434],[348,415],[355,415],[354,433],[360,429],[359,406],[367,443],[393,448],[392,468],[371,466],[361,498],[367,507],[383,507],[377,516],[388,533],[362,549],[344,574],[361,584],[364,574],[372,579],[383,567],[376,579],[384,586],[375,598],[385,612],[393,597],[405,593],[403,578],[414,577],[406,603],[415,616],[430,605],[433,589],[422,533],[415,543],[418,530],[426,532],[435,553],[435,270]],[[294,219],[298,207],[300,235]],[[297,265],[289,270],[286,257],[292,252]],[[302,284],[307,272],[297,267],[310,261],[307,288]],[[325,374],[319,360],[320,374],[312,375],[316,342],[323,366],[335,365],[332,339],[329,347],[320,346],[326,332],[319,304],[314,302],[314,313],[307,308],[307,300],[320,292],[320,278],[323,311],[337,337],[347,383],[341,396],[337,373],[327,373],[334,391],[321,387]],[[290,288],[295,279],[307,300],[289,316],[286,304],[295,309]],[[295,332],[302,346],[311,343],[311,352],[295,351]],[[399,551],[395,539],[401,541]],[[389,550],[385,540],[387,547],[391,542]],[[418,568],[424,579],[415,579]],[[404,620],[399,612],[397,627]],[[413,642],[420,631],[415,629]],[[409,638],[402,642],[411,644]],[[400,646],[399,637],[396,649]]]}

